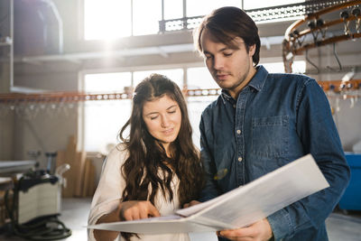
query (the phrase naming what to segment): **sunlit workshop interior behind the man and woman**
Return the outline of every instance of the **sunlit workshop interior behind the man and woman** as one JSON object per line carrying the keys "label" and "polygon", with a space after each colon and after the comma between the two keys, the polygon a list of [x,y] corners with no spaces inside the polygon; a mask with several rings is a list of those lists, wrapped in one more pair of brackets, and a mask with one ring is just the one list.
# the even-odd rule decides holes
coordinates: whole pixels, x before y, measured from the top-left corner
{"label": "sunlit workshop interior behind the man and woman", "polygon": [[[0,240],[27,240],[9,232],[5,193],[16,196],[14,179],[29,170],[59,177],[48,189],[49,209],[71,229],[61,240],[87,239],[102,163],[120,142],[134,86],[151,73],[183,89],[199,147],[200,114],[220,92],[192,30],[225,5],[255,20],[261,65],[309,75],[329,98],[351,167],[345,207],[327,220],[329,240],[359,240],[361,1],[347,0],[0,0]],[[322,23],[311,18],[325,9]],[[48,205],[44,197],[35,202]]]}

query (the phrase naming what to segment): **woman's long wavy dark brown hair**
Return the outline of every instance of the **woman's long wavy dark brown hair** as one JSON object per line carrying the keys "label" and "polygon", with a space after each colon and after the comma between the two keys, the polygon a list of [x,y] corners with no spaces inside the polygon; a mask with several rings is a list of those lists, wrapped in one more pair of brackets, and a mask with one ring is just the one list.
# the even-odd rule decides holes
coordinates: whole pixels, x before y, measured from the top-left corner
{"label": "woman's long wavy dark brown hair", "polygon": [[[176,101],[181,112],[180,132],[170,144],[171,158],[167,157],[162,144],[149,134],[142,117],[144,103],[164,95]],[[130,133],[125,138],[123,135],[128,126]],[[171,79],[159,74],[143,79],[134,89],[132,114],[119,134],[129,153],[122,166],[125,177],[123,201],[150,200],[154,204],[158,190],[168,201],[173,199],[173,191],[178,191],[180,205],[198,199],[203,186],[203,170],[191,135],[187,104],[180,88]],[[160,176],[160,172],[163,175]],[[180,180],[179,190],[171,190],[174,173]],[[130,237],[125,233],[122,236],[126,239]]]}

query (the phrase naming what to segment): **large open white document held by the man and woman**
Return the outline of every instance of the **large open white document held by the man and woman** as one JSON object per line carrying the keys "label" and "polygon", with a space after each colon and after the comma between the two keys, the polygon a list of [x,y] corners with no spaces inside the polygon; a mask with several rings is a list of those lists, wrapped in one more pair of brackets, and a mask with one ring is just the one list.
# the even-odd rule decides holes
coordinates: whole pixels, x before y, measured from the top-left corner
{"label": "large open white document held by the man and woman", "polygon": [[208,232],[245,227],[329,187],[312,156],[305,155],[245,186],[173,216],[88,226],[140,234]]}

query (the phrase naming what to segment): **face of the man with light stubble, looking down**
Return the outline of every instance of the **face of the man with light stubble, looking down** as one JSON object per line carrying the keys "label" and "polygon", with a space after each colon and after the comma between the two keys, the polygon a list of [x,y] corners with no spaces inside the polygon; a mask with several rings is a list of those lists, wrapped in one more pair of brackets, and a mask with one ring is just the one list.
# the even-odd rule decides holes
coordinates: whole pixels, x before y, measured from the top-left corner
{"label": "face of the man with light stubble, looking down", "polygon": [[205,63],[218,86],[227,89],[236,98],[255,75],[252,61],[255,45],[250,46],[247,52],[245,42],[240,37],[236,37],[230,44],[235,46],[232,48],[213,39],[207,30],[200,36]]}

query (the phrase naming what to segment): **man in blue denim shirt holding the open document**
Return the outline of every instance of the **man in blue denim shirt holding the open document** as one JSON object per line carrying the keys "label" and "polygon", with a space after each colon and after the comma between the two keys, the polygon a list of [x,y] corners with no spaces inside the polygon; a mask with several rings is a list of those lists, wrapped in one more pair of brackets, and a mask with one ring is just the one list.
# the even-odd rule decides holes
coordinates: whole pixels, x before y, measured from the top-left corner
{"label": "man in blue denim shirt holding the open document", "polygon": [[249,227],[220,231],[219,239],[328,240],[325,219],[347,187],[349,169],[323,90],[307,76],[270,74],[257,66],[258,29],[236,7],[206,16],[194,39],[222,88],[199,125],[207,173],[200,200],[245,185],[307,153],[330,185]]}

